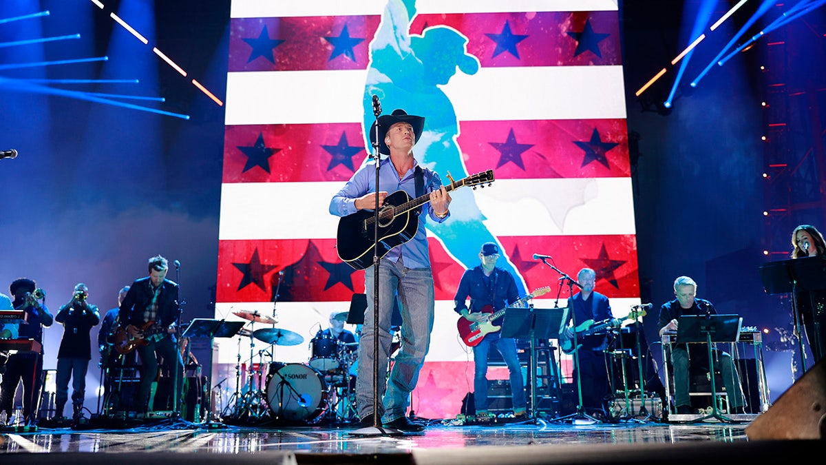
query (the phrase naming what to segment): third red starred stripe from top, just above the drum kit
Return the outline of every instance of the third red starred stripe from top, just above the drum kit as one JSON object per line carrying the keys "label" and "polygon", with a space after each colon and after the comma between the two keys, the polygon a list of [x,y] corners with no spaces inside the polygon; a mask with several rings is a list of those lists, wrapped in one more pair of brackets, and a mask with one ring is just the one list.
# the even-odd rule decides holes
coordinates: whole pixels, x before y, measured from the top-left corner
{"label": "third red starred stripe from top, just above the drum kit", "polygon": [[[555,289],[559,277],[534,252],[553,256],[553,264],[576,277],[583,267],[596,271],[596,290],[609,297],[639,295],[636,239],[633,235],[499,237],[529,287]],[[430,238],[436,300],[453,300],[464,267]],[[284,271],[283,276],[278,271]],[[287,302],[348,301],[364,292],[363,271],[340,261],[335,239],[221,241],[218,246],[218,302],[262,302],[273,299],[282,279],[279,300]],[[567,296],[567,293],[563,293]]]}

